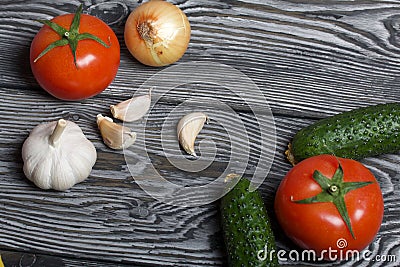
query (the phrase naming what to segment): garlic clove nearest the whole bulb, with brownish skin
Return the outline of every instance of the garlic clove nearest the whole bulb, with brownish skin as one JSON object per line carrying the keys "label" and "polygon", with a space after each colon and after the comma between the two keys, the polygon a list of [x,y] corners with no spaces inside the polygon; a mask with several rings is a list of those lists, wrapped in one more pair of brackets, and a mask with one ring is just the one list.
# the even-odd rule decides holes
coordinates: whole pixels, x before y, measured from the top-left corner
{"label": "garlic clove nearest the whole bulb, with brownish skin", "polygon": [[104,143],[112,149],[124,149],[136,141],[136,133],[128,127],[119,125],[109,117],[97,115],[97,126],[100,129]]}

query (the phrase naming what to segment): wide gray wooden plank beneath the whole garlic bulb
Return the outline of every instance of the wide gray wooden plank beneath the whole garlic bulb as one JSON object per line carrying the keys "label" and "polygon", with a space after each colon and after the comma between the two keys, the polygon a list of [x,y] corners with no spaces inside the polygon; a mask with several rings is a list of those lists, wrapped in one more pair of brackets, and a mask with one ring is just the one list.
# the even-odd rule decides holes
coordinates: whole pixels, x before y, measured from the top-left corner
{"label": "wide gray wooden plank beneath the whole garlic bulb", "polygon": [[[3,246],[9,249],[34,249],[44,254],[55,253],[66,257],[79,256],[116,262],[124,259],[127,262],[147,264],[158,260],[160,265],[165,266],[178,263],[182,266],[222,264],[224,251],[220,236],[218,204],[198,208],[172,207],[153,200],[138,188],[125,166],[123,155],[107,149],[102,144],[97,129],[92,127],[93,125],[90,126],[102,101],[100,99],[98,105],[80,107],[93,116],[82,116],[76,120],[83,126],[89,139],[95,143],[99,161],[87,181],[65,193],[36,189],[21,173],[20,152],[16,147],[23,142],[35,123],[48,119],[45,117],[47,112],[43,112],[43,118],[38,117],[37,121],[29,122],[27,118],[31,115],[28,107],[31,103],[28,99],[22,102],[26,105],[26,109],[22,110],[28,110],[27,114],[20,114],[18,118],[13,119],[12,138],[7,140],[9,133],[5,132],[0,138],[3,140],[4,152],[1,153],[4,156],[1,156],[3,177],[0,180],[3,188],[0,194],[3,202],[0,239]],[[43,106],[54,110],[53,119],[62,116],[68,118],[69,114],[76,112],[73,104],[51,106],[51,102],[52,100],[48,102],[50,106],[46,103],[43,103]],[[56,108],[58,105],[60,107]],[[159,108],[170,109],[168,106]],[[167,112],[157,112],[154,118],[148,120],[154,124],[147,126],[151,129],[149,136],[160,134],[161,124],[157,122],[157,116],[158,119],[162,119],[165,113]],[[290,168],[283,155],[287,140],[311,121],[276,116],[275,122],[279,136],[277,154],[271,172],[261,187],[270,211],[276,187]],[[212,134],[212,131],[209,131],[207,135]],[[174,140],[172,135],[167,137],[167,142]],[[200,138],[205,138],[205,135]],[[155,159],[154,162],[161,171],[168,173],[169,178],[185,184],[196,184],[196,181],[191,183],[193,177],[207,181],[207,177],[199,175],[192,175],[188,180],[188,176],[171,171],[168,167],[170,163],[162,156],[162,148],[152,145],[152,142],[158,141],[150,138],[149,142],[151,158]],[[10,154],[14,157],[6,156]],[[177,157],[178,154],[172,155],[174,156]],[[216,161],[223,163],[225,158],[223,155],[217,155]],[[383,242],[381,239],[385,242],[379,246],[375,243],[374,252],[393,247],[398,241],[396,238],[384,239],[385,236],[396,235],[398,232],[396,226],[399,208],[395,204],[399,201],[396,188],[399,170],[395,167],[398,162],[397,155],[365,160],[380,180],[385,201],[389,203],[386,205],[385,223],[378,236],[380,242]],[[250,169],[254,164],[254,161],[250,162]],[[288,240],[279,234],[279,228],[276,227],[279,246],[291,248]],[[161,255],[163,259],[159,260]]]}

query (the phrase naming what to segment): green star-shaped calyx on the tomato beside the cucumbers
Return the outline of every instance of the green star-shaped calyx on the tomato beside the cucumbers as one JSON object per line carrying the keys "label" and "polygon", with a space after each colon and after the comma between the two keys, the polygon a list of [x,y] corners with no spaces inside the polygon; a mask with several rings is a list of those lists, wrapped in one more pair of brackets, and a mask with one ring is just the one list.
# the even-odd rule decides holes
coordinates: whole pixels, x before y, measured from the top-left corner
{"label": "green star-shaped calyx on the tomato beside the cucumbers", "polygon": [[337,210],[339,211],[339,214],[342,217],[343,221],[346,223],[346,226],[349,229],[351,236],[354,239],[356,239],[353,232],[353,228],[351,226],[350,217],[347,211],[344,197],[348,192],[367,186],[373,182],[371,181],[344,182],[343,169],[340,163],[335,171],[335,174],[332,176],[331,179],[324,176],[318,170],[314,171],[313,178],[321,187],[322,192],[313,197],[297,200],[294,202],[299,204],[311,204],[311,203],[323,203],[323,202],[333,203],[336,206]]}

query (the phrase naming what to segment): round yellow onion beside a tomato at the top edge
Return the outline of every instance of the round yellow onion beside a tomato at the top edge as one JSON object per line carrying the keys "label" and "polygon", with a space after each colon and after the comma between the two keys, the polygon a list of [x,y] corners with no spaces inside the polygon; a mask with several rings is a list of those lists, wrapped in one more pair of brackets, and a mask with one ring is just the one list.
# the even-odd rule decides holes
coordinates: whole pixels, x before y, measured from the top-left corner
{"label": "round yellow onion beside a tomato at the top edge", "polygon": [[190,40],[190,24],[179,7],[162,0],[141,4],[125,24],[125,44],[131,54],[149,66],[178,61]]}

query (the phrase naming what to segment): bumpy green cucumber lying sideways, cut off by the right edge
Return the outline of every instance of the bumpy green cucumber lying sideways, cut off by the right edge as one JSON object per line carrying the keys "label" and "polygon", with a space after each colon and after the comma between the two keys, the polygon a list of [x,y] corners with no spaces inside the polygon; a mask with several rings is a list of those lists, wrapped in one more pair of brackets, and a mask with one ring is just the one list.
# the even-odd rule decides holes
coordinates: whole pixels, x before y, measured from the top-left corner
{"label": "bumpy green cucumber lying sideways, cut off by the right edge", "polygon": [[303,128],[286,151],[295,165],[320,154],[361,159],[400,151],[400,104],[389,103],[343,112]]}

